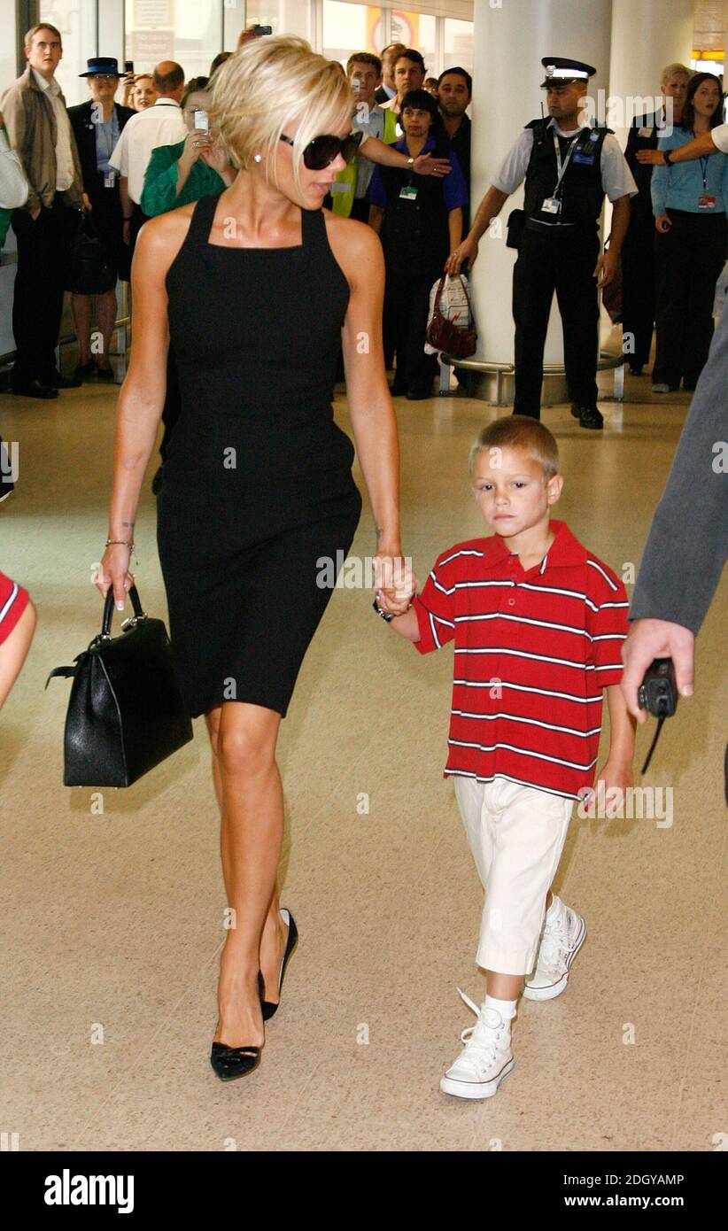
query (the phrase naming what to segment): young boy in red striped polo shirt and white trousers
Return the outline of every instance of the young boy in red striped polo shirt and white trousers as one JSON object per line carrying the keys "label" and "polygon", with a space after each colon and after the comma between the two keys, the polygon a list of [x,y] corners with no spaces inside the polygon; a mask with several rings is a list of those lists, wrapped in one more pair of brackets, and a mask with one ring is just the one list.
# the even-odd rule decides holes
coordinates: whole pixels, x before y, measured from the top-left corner
{"label": "young boy in red striped polo shirt and white trousers", "polygon": [[[440,1088],[489,1098],[514,1066],[521,991],[558,996],[586,936],[549,886],[574,800],[594,783],[602,691],[605,789],[632,785],[634,720],[620,689],[625,587],[549,519],[564,481],[551,432],[522,415],[496,420],[471,451],[471,475],[494,533],[443,551],[405,614],[384,618],[420,654],[455,641],[445,776],[485,890],[477,960],[487,995],[478,1009],[461,992],[478,1020]],[[397,597],[406,591],[405,579]]]}

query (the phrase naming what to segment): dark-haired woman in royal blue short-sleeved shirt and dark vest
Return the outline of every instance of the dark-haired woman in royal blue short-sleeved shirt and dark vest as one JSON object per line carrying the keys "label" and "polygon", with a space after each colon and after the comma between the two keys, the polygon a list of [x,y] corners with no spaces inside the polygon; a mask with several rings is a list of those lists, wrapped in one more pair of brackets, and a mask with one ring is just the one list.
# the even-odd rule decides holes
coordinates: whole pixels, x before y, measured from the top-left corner
{"label": "dark-haired woman in royal blue short-sleeved shirt and dark vest", "polygon": [[376,166],[370,183],[370,224],[381,234],[387,283],[384,337],[397,351],[394,396],[429,398],[437,357],[425,355],[430,291],[462,235],[462,207],[468,190],[457,156],[450,149],[437,103],[426,90],[410,90],[399,117],[404,137],[395,144],[410,158],[431,150],[450,160],[443,180]]}

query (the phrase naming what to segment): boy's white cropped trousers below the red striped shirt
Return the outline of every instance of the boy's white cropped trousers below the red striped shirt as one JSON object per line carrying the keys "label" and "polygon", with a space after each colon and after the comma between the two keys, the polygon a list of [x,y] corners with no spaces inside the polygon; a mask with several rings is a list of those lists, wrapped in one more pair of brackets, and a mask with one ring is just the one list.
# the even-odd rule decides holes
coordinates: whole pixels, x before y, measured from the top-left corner
{"label": "boy's white cropped trousers below the red striped shirt", "polygon": [[574,800],[506,778],[483,783],[453,774],[453,780],[485,890],[478,965],[504,975],[528,975]]}

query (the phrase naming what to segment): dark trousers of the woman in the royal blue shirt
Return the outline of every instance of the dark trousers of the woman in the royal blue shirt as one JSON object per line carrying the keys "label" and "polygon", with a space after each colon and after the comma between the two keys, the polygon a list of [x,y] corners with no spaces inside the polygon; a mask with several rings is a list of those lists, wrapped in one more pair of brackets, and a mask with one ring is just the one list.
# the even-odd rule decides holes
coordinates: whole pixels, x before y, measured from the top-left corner
{"label": "dark trousers of the woman in the royal blue shirt", "polygon": [[395,383],[400,389],[429,389],[437,373],[437,356],[425,355],[430,291],[439,273],[423,273],[416,265],[387,266],[384,289],[384,345],[397,353]]}

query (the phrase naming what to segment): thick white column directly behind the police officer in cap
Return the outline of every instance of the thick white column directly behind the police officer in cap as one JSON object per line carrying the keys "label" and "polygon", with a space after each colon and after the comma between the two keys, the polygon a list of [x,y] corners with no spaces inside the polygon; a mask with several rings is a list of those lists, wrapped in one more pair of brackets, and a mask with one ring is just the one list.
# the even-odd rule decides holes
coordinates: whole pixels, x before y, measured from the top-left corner
{"label": "thick white column directly behind the police officer in cap", "polygon": [[[655,0],[659,7],[661,0]],[[473,73],[473,145],[471,215],[499,162],[530,119],[541,114],[544,91],[541,59],[573,55],[599,70],[590,92],[606,89],[610,65],[612,0],[475,0]],[[475,358],[510,363],[514,357],[511,315],[516,252],[506,247],[505,220],[522,203],[522,190],[506,201],[500,238],[484,235],[472,273],[478,324]],[[546,363],[563,362],[560,318],[552,308]]]}

